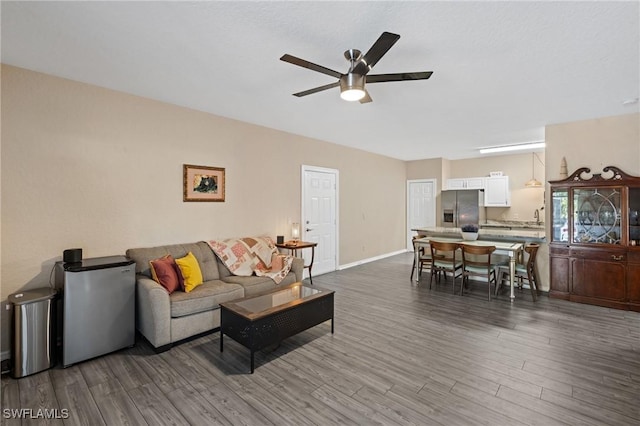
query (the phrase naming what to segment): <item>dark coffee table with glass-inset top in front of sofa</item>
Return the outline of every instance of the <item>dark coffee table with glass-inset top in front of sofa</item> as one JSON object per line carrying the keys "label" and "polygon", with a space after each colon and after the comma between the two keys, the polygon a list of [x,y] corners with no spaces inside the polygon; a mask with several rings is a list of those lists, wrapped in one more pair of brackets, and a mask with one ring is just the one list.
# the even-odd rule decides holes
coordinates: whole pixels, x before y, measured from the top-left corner
{"label": "dark coffee table with glass-inset top in front of sofa", "polygon": [[294,283],[269,292],[220,304],[220,352],[226,334],[254,354],[308,328],[331,320],[332,290]]}

